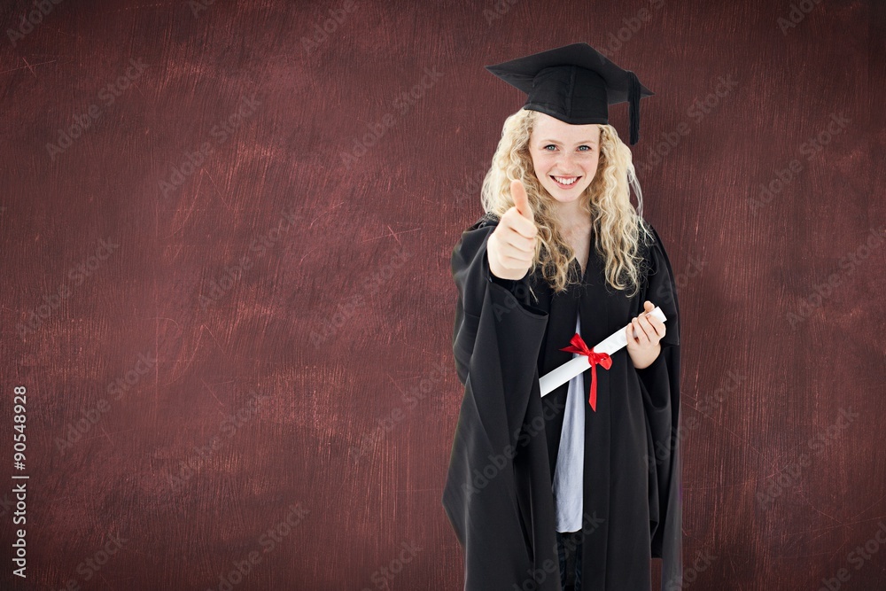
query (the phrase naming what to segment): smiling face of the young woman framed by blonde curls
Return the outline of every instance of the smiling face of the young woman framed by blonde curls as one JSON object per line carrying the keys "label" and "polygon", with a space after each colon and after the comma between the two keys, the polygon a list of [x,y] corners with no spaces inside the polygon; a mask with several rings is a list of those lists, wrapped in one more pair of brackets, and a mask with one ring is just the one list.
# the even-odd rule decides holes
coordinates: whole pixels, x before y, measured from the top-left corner
{"label": "smiling face of the young woman framed by blonde curls", "polygon": [[570,125],[537,113],[529,153],[541,186],[560,203],[571,203],[594,180],[600,158],[600,126]]}

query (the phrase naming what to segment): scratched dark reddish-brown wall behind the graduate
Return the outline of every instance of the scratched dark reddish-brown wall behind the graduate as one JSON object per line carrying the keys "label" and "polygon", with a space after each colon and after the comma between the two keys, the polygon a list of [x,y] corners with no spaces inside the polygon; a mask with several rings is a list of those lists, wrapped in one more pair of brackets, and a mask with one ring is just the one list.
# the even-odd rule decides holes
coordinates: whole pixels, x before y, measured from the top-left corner
{"label": "scratched dark reddish-brown wall behind the graduate", "polygon": [[882,3],[53,2],[0,19],[0,587],[461,588],[483,66],[577,41],[657,93],[684,588],[886,586]]}

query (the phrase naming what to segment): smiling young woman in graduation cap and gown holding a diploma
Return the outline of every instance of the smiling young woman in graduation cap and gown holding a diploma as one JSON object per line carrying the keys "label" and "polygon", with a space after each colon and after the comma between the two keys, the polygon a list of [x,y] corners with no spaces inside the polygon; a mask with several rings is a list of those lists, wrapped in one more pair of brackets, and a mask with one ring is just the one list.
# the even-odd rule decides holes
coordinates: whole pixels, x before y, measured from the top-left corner
{"label": "smiling young woman in graduation cap and gown holding a diploma", "polygon": [[[505,121],[486,214],[452,255],[465,395],[443,505],[464,549],[465,589],[646,591],[653,556],[672,588],[677,294],[641,217],[630,149],[607,119],[609,104],[630,100],[633,144],[639,100],[652,93],[586,43],[489,69],[529,98]],[[647,316],[655,307],[666,323]],[[625,348],[590,350],[618,330]],[[592,371],[541,398],[539,377],[573,351]]]}

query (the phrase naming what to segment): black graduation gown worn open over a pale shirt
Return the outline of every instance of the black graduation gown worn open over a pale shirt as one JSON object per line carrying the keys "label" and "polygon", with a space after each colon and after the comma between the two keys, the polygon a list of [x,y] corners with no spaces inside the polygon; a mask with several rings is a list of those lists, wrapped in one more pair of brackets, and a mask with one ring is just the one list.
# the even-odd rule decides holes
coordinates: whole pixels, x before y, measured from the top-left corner
{"label": "black graduation gown worn open over a pale shirt", "polygon": [[653,556],[663,558],[662,589],[671,589],[682,572],[680,313],[661,240],[649,225],[649,271],[633,298],[607,292],[593,237],[581,284],[555,295],[538,270],[520,281],[489,273],[486,240],[497,223],[486,214],[465,230],[451,260],[464,397],[442,502],[464,553],[464,588],[560,591],[551,486],[568,384],[541,398],[539,377],[571,360],[559,349],[570,345],[579,309],[592,347],[649,299],[667,317],[657,360],[636,369],[622,348],[610,369],[597,366],[596,411],[585,372],[582,588],[648,591]]}

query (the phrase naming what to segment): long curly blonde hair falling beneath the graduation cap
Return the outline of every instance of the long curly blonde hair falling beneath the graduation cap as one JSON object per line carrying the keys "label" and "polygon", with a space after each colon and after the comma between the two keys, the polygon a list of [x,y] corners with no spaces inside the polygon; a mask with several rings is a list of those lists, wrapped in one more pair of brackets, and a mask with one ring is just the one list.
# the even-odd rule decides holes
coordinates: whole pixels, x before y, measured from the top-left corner
{"label": "long curly blonde hair falling beneath the graduation cap", "polygon": [[[541,267],[542,276],[555,292],[563,292],[569,284],[578,284],[580,277],[569,270],[575,253],[566,243],[555,216],[555,199],[541,186],[532,166],[529,139],[537,112],[520,109],[508,117],[501,130],[501,141],[486,173],[481,202],[486,214],[501,219],[514,201],[510,182],[520,180],[526,188],[535,225],[539,228],[535,256],[529,274]],[[637,195],[637,209],[631,205],[628,185]],[[591,234],[595,251],[606,261],[606,283],[611,288],[640,291],[645,269],[641,268],[641,234],[647,243],[654,239],[643,223],[643,200],[640,183],[633,168],[631,150],[610,125],[600,125],[600,158],[594,180],[579,196],[581,208],[592,219]],[[607,288],[608,289],[608,288]],[[532,294],[534,297],[534,293]]]}

